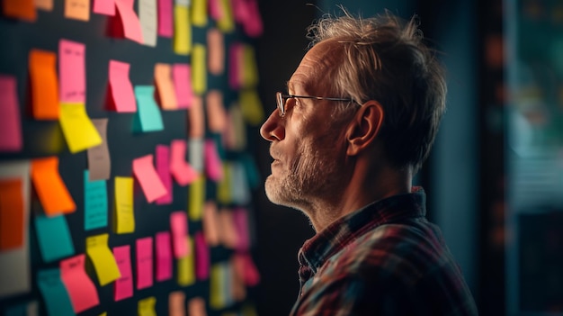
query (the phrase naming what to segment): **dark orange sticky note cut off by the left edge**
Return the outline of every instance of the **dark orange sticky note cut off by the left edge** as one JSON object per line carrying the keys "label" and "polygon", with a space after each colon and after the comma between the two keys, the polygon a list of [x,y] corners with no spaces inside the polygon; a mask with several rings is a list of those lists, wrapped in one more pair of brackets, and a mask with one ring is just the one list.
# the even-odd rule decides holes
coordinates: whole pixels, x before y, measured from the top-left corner
{"label": "dark orange sticky note cut off by the left edge", "polygon": [[22,179],[2,179],[0,180],[0,251],[22,246]]}

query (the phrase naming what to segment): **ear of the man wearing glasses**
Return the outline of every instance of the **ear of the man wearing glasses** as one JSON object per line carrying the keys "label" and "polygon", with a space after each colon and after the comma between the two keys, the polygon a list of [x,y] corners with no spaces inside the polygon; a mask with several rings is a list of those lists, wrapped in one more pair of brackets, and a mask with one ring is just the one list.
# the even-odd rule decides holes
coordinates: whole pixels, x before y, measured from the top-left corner
{"label": "ear of the man wearing glasses", "polygon": [[383,107],[379,102],[370,100],[362,104],[346,131],[348,155],[356,156],[371,146],[380,132],[383,116]]}

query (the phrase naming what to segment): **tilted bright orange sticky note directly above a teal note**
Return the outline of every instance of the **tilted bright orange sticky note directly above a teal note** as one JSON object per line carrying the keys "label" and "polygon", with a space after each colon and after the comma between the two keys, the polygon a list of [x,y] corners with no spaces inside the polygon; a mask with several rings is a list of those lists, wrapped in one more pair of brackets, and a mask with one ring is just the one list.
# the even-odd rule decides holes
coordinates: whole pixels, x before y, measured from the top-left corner
{"label": "tilted bright orange sticky note directly above a teal note", "polygon": [[58,174],[58,157],[37,158],[31,161],[31,180],[45,214],[75,212],[76,204]]}

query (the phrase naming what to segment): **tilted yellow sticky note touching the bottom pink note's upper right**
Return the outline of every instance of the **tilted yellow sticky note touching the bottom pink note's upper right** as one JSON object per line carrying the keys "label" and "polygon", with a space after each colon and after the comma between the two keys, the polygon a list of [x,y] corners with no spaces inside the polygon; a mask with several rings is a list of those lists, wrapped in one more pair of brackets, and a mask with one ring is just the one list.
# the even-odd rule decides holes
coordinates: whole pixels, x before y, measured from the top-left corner
{"label": "tilted yellow sticky note touching the bottom pink note's upper right", "polygon": [[86,254],[92,260],[98,281],[102,286],[121,277],[120,268],[108,247],[109,238],[107,233],[86,238]]}

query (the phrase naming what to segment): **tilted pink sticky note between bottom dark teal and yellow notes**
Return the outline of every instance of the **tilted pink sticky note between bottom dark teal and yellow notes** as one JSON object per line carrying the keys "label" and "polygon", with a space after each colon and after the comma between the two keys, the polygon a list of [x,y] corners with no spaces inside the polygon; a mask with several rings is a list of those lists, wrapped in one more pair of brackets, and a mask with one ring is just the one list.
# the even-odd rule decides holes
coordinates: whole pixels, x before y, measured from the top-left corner
{"label": "tilted pink sticky note between bottom dark teal and yellow notes", "polygon": [[100,303],[94,282],[85,272],[85,254],[60,261],[60,278],[76,313]]}

